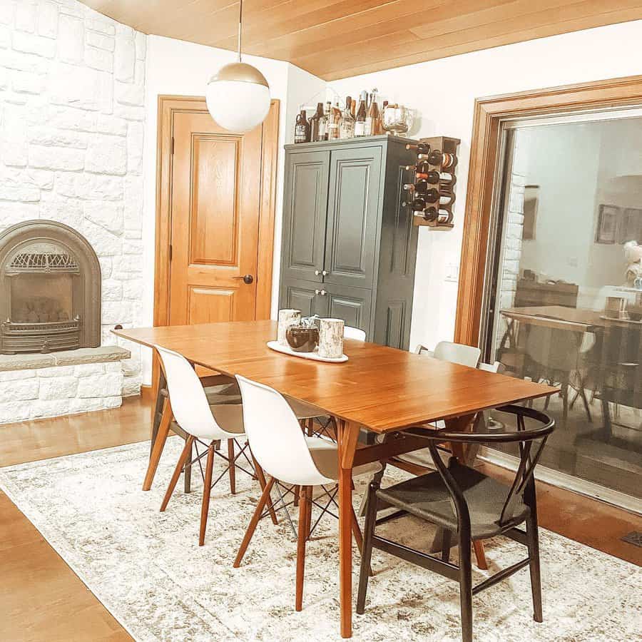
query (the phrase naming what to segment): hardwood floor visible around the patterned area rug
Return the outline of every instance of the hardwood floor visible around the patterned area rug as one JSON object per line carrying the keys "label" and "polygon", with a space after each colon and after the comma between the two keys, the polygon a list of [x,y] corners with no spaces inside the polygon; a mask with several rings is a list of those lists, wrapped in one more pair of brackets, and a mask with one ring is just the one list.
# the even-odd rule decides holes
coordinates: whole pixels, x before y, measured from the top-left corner
{"label": "hardwood floor visible around the patterned area rug", "polygon": [[[0,467],[143,441],[149,426],[150,403],[138,397],[115,410],[2,425]],[[541,526],[642,566],[642,549],[620,540],[642,531],[642,518],[547,484],[538,493]],[[0,640],[132,639],[1,492],[0,569]]]}

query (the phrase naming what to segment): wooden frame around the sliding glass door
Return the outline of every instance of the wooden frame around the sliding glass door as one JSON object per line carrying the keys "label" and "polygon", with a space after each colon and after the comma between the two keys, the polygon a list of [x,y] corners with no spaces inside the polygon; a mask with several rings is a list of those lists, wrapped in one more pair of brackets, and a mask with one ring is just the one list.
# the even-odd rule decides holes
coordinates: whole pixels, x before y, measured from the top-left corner
{"label": "wooden frame around the sliding glass door", "polygon": [[642,103],[642,76],[551,87],[475,101],[454,340],[479,344],[501,121]]}

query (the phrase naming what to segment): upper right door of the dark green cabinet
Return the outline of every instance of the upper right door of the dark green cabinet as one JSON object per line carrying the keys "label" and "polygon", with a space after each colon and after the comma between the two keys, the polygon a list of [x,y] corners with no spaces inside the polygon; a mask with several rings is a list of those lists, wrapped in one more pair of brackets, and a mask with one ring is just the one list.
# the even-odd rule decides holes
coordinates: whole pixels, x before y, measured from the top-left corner
{"label": "upper right door of the dark green cabinet", "polygon": [[382,148],[332,151],[325,282],[372,287]]}

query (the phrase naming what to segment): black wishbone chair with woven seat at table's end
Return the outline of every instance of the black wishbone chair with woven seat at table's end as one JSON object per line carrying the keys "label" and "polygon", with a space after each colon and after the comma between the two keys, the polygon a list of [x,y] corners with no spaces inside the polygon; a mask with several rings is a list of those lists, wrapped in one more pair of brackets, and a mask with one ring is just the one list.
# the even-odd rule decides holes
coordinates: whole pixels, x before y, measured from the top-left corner
{"label": "black wishbone chair with woven seat at table's end", "polygon": [[[532,408],[509,405],[497,410],[516,416],[516,432],[475,434],[438,430],[429,434],[426,431],[414,432],[412,428],[404,431],[415,437],[421,436],[427,439],[427,447],[437,472],[414,477],[386,489],[379,488],[383,472],[377,474],[370,482],[357,613],[363,613],[365,610],[368,571],[372,549],[375,548],[459,581],[464,642],[472,641],[472,596],[506,579],[525,566],[529,566],[531,571],[533,617],[536,622],[542,621],[537,504],[533,472],[541,457],[546,439],[553,432],[555,422],[543,412]],[[526,429],[525,418],[541,425]],[[533,447],[534,442],[538,440],[539,444]],[[478,470],[460,464],[454,457],[450,458],[446,466],[437,451],[439,442],[519,443],[520,461],[513,483],[511,486],[501,484]],[[379,500],[398,510],[392,515],[377,520]],[[374,533],[376,524],[404,514],[425,519],[445,529],[441,559],[384,539]],[[517,526],[524,522],[526,529],[518,529]],[[459,545],[459,566],[449,561],[452,534],[457,537]],[[519,544],[524,544],[529,554],[525,559],[502,569],[477,586],[472,586],[471,543],[497,535],[504,535]]]}

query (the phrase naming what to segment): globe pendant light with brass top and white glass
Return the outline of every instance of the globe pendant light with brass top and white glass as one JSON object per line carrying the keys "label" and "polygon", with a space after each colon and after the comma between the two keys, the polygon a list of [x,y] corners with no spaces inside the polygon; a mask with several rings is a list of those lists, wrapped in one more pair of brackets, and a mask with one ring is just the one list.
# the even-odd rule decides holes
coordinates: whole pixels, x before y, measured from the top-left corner
{"label": "globe pendant light with brass top and white glass", "polygon": [[238,62],[221,67],[208,83],[205,99],[218,125],[244,133],[263,123],[270,110],[270,86],[256,67],[241,62],[243,0],[238,9]]}

